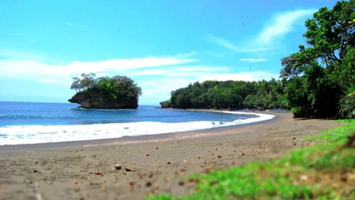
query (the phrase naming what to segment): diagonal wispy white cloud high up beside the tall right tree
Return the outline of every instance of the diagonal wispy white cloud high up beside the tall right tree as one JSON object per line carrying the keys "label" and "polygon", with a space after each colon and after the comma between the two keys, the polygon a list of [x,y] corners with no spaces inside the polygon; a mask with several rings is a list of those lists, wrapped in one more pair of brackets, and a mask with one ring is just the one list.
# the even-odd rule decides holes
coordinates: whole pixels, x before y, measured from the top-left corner
{"label": "diagonal wispy white cloud high up beside the tall right tree", "polygon": [[269,44],[275,38],[291,32],[298,20],[304,20],[305,17],[311,16],[316,11],[317,10],[314,9],[308,9],[276,14],[271,18],[269,24],[257,35],[254,42]]}

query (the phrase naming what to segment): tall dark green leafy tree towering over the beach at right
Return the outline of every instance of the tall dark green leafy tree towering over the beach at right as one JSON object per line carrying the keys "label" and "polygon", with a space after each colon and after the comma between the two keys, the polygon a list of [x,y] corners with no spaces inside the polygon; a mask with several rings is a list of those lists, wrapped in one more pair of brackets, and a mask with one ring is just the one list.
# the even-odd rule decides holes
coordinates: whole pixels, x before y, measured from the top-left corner
{"label": "tall dark green leafy tree towering over the beach at right", "polygon": [[308,47],[282,59],[280,77],[295,117],[332,117],[343,88],[354,83],[355,1],[323,7],[305,23]]}

